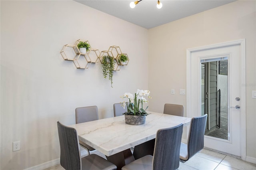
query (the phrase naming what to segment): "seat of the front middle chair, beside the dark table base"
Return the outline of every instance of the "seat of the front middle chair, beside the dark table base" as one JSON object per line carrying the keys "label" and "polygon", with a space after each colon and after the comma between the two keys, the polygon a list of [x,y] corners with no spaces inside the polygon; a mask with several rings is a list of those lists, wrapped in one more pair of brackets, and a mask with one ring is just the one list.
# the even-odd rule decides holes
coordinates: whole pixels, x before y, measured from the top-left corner
{"label": "seat of the front middle chair, beside the dark table base", "polygon": [[153,156],[146,155],[140,159],[134,160],[130,164],[123,166],[122,170],[152,170]]}

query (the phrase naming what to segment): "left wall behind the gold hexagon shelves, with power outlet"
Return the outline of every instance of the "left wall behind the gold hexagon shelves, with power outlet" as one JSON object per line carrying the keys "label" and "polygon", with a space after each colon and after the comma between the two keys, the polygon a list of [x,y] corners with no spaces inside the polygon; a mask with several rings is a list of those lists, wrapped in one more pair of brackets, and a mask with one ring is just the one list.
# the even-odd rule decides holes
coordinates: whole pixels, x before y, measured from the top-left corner
{"label": "left wall behind the gold hexagon shelves, with power outlet", "polygon": [[[100,119],[112,117],[121,95],[148,89],[148,30],[74,1],[0,3],[0,169],[59,158],[56,122],[74,124],[76,107],[97,105]],[[114,73],[113,88],[100,63],[82,70],[64,61],[62,47],[78,39],[100,51],[117,45],[128,54],[128,65]],[[18,140],[20,150],[12,152]]]}

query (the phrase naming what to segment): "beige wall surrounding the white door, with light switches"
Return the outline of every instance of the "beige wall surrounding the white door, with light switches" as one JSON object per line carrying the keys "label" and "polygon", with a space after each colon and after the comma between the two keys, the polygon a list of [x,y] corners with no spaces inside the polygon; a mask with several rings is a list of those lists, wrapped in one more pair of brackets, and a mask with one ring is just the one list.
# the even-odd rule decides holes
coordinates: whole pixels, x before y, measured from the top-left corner
{"label": "beige wall surrounding the white door, with light switches", "polygon": [[[236,1],[149,30],[150,110],[186,108],[186,49],[246,38],[246,155],[256,162],[256,1]],[[176,94],[171,95],[171,89]],[[242,99],[241,99],[242,100]],[[186,110],[184,111],[186,116]]]}

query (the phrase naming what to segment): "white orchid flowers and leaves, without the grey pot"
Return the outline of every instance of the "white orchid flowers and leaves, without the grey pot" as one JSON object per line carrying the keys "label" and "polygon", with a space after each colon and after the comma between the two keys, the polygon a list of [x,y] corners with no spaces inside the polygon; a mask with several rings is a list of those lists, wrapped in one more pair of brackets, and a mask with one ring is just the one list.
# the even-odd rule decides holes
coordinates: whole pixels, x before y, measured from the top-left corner
{"label": "white orchid flowers and leaves, without the grey pot", "polygon": [[148,103],[145,97],[148,97],[150,99],[151,97],[149,96],[149,93],[150,91],[148,90],[140,90],[140,89],[137,90],[137,93],[135,93],[134,96],[131,93],[124,93],[124,95],[121,98],[129,99],[129,104],[128,102],[122,103],[122,107],[124,108],[127,103],[128,112],[125,112],[124,115],[138,115],[138,116],[148,115],[148,113],[146,113],[146,109],[148,109],[148,106],[146,107],[146,109],[143,109],[143,103]]}

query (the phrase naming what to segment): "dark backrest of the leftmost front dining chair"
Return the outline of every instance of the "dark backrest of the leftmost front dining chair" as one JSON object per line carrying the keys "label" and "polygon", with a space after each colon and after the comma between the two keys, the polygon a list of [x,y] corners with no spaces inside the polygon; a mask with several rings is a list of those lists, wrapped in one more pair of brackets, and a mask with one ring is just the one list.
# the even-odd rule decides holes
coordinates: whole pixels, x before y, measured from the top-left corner
{"label": "dark backrest of the leftmost front dining chair", "polygon": [[80,170],[81,157],[76,129],[57,122],[60,140],[60,165],[66,170]]}

